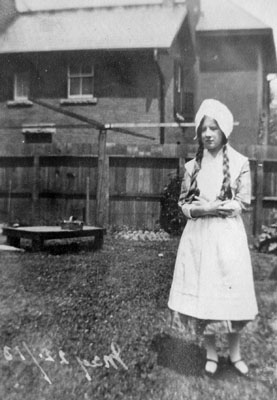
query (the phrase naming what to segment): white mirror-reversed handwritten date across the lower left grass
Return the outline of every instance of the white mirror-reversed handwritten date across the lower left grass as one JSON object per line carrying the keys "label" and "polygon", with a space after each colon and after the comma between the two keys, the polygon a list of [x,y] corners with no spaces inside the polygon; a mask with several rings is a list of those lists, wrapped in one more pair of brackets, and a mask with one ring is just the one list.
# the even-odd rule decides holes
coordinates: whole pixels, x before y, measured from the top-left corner
{"label": "white mirror-reversed handwritten date across the lower left grass", "polygon": [[[28,353],[28,357],[30,357],[31,361],[38,367],[40,370],[43,378],[50,384],[52,385],[52,381],[49,378],[49,376],[46,374],[44,371],[43,367],[41,366],[41,363],[39,362],[38,358],[35,356],[35,354],[32,352],[32,350],[29,348],[29,346],[25,343],[22,342],[22,346],[24,347],[24,352],[18,346],[15,346],[14,348],[11,348],[9,346],[4,346],[3,348],[3,355],[6,361],[12,362],[12,361],[18,361],[18,358],[22,362],[28,362],[28,358],[26,358],[26,353]],[[117,346],[115,343],[111,343],[111,353],[109,355],[104,355],[103,358],[101,359],[97,355],[94,356],[93,360],[88,361],[86,359],[80,359],[79,357],[75,357],[77,360],[77,363],[79,364],[80,368],[83,370],[86,379],[91,382],[91,376],[89,374],[89,369],[90,368],[110,368],[112,366],[114,369],[118,369],[118,364],[124,368],[125,370],[128,370],[127,365],[122,361],[120,357],[120,348]],[[70,362],[67,359],[66,354],[62,351],[58,351],[58,356],[54,355],[53,352],[48,350],[47,348],[42,348],[40,353],[38,354],[38,357],[40,360],[43,362],[50,362],[50,363],[59,363],[60,365],[69,365]],[[117,363],[116,363],[117,362]]]}

